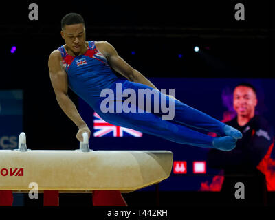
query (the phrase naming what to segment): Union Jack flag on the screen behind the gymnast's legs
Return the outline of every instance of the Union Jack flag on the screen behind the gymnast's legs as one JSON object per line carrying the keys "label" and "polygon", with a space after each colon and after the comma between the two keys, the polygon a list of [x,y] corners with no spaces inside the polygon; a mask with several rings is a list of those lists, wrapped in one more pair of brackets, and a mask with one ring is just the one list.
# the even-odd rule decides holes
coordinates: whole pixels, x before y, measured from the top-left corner
{"label": "Union Jack flag on the screen behind the gymnast's legs", "polygon": [[94,113],[94,137],[142,137],[142,132],[105,122]]}

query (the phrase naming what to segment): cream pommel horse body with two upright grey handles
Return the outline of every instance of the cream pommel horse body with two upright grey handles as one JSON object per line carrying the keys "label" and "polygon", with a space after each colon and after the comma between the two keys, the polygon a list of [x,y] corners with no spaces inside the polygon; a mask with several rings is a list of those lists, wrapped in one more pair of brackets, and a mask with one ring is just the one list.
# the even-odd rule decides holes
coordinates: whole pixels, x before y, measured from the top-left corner
{"label": "cream pommel horse body with two upright grey handles", "polygon": [[22,132],[18,149],[0,151],[0,190],[26,193],[36,183],[44,197],[47,191],[128,193],[167,179],[172,166],[170,151],[93,151],[87,133],[78,150],[32,151]]}

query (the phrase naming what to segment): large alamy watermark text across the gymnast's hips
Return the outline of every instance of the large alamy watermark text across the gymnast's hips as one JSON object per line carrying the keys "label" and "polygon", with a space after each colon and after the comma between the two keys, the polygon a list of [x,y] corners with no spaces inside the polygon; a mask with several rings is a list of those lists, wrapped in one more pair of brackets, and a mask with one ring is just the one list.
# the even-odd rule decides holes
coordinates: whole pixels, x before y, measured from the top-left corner
{"label": "large alamy watermark text across the gymnast's hips", "polygon": [[[170,97],[166,96],[166,89],[137,89],[136,93],[134,89],[127,88],[122,92],[122,83],[116,83],[115,90],[102,89],[100,97],[106,97],[100,103],[102,113],[151,113],[153,102],[153,113],[162,113],[162,120],[173,120],[175,117],[175,98],[171,97],[175,96],[175,89],[169,89]],[[128,98],[122,102],[122,97]],[[166,113],[168,115],[164,115]]]}

